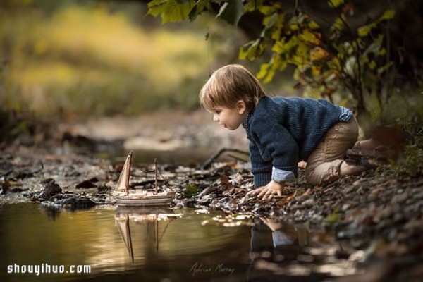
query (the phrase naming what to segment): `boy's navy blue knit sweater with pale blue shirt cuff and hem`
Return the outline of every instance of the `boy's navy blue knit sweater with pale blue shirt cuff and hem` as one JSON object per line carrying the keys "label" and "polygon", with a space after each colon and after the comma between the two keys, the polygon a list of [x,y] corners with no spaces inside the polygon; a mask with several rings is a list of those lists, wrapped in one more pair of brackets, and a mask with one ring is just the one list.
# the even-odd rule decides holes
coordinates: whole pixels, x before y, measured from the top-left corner
{"label": "boy's navy blue knit sweater with pale blue shirt cuff and hem", "polygon": [[243,122],[255,187],[295,179],[298,161],[307,161],[326,131],[351,116],[324,99],[262,97]]}

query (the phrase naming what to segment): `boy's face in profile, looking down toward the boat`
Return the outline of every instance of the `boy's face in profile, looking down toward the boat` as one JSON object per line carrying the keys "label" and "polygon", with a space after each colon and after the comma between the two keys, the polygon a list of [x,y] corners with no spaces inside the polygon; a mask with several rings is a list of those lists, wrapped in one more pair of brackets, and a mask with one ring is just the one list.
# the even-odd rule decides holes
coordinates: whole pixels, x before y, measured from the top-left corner
{"label": "boy's face in profile, looking down toward the boat", "polygon": [[212,110],[212,114],[213,121],[223,125],[225,128],[228,128],[228,130],[239,128],[247,117],[245,102],[243,102],[243,100],[238,101],[232,109],[226,106],[216,106]]}

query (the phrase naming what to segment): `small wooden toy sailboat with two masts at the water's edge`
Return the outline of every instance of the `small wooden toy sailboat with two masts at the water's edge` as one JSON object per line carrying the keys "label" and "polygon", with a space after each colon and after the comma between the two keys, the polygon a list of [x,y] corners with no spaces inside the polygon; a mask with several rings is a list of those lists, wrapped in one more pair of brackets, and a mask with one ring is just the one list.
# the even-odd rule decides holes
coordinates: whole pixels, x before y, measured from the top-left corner
{"label": "small wooden toy sailboat with two masts at the water's edge", "polygon": [[130,192],[130,166],[132,163],[133,152],[131,151],[126,157],[125,165],[123,166],[121,176],[119,177],[117,190],[125,190],[124,193],[119,193],[115,196],[118,206],[164,206],[172,202],[176,192],[168,190],[166,192],[159,193],[157,185],[157,159],[154,159],[154,192],[142,191],[142,189],[135,187],[135,192]]}

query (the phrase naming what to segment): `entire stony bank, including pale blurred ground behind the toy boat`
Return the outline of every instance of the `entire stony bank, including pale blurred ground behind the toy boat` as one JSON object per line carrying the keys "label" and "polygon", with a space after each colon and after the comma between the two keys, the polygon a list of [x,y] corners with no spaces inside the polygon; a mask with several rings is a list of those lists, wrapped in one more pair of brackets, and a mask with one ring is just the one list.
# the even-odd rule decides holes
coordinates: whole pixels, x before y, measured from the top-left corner
{"label": "entire stony bank, including pale blurred ground behind the toy boat", "polygon": [[[329,185],[307,185],[300,171],[298,183],[288,185],[282,197],[262,202],[245,198],[252,190],[252,176],[242,157],[226,156],[202,169],[204,160],[223,147],[247,151],[242,128],[229,132],[212,123],[204,111],[102,118],[66,123],[50,131],[52,137],[38,137],[37,142],[18,138],[3,144],[0,204],[38,202],[51,209],[115,207],[111,194],[125,155],[129,150],[135,150],[135,156],[150,152],[134,162],[131,180],[149,183],[152,176],[144,171],[152,167],[153,157],[171,156],[172,161],[160,161],[159,168],[168,188],[176,191],[174,208],[245,214],[323,229],[328,238],[318,241],[335,242],[328,252],[362,266],[360,277],[339,281],[419,281],[423,277],[419,151],[407,152],[406,169],[396,164],[381,166]],[[189,161],[178,154],[188,155]]]}

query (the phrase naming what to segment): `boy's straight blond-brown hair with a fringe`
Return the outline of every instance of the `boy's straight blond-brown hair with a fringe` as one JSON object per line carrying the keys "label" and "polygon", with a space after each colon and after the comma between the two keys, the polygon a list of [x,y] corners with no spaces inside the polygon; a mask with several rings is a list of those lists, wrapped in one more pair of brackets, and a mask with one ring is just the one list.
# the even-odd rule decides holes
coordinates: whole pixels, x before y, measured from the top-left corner
{"label": "boy's straight blond-brown hair with a fringe", "polygon": [[207,111],[213,111],[216,106],[233,109],[243,100],[250,111],[264,95],[259,80],[247,68],[234,64],[223,66],[212,74],[200,91],[200,104]]}

